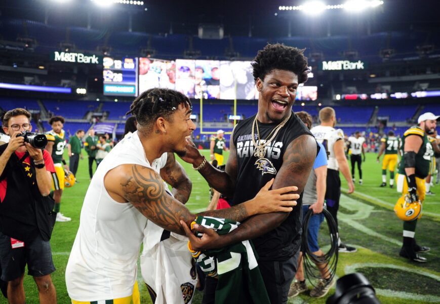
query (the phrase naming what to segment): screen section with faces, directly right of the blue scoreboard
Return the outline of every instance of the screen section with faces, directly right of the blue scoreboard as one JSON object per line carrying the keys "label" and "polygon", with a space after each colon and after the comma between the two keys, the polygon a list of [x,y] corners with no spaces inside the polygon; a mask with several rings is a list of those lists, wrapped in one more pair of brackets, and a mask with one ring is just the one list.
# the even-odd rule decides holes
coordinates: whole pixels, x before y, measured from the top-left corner
{"label": "screen section with faces, directly right of the blue scoreboard", "polygon": [[176,62],[139,58],[139,93],[152,88],[176,89]]}

